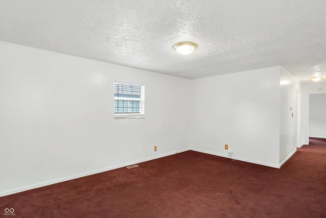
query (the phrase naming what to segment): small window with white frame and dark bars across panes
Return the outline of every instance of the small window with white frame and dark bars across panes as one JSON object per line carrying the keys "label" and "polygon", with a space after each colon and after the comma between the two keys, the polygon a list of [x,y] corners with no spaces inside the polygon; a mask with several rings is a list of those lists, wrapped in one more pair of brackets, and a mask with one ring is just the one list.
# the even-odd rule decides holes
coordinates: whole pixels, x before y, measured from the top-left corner
{"label": "small window with white frame and dark bars across panes", "polygon": [[145,117],[145,87],[142,83],[114,82],[114,118]]}

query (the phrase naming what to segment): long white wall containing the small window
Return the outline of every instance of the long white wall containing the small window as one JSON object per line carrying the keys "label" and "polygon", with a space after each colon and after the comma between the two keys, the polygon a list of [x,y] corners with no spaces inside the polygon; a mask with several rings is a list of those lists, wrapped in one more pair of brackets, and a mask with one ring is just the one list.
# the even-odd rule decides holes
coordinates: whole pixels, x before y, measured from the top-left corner
{"label": "long white wall containing the small window", "polygon": [[[114,119],[115,79],[145,119]],[[0,41],[0,196],[187,150],[189,82]]]}

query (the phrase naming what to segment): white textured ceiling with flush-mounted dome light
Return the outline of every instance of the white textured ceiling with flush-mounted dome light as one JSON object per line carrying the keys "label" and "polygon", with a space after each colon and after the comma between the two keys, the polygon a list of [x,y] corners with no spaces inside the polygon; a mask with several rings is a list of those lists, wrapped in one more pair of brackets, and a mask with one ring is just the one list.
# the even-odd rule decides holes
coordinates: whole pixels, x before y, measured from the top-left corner
{"label": "white textured ceiling with flush-mounted dome light", "polygon": [[[326,76],[326,1],[0,0],[0,40],[189,79],[282,65],[308,81]],[[180,41],[198,47],[181,56]]]}

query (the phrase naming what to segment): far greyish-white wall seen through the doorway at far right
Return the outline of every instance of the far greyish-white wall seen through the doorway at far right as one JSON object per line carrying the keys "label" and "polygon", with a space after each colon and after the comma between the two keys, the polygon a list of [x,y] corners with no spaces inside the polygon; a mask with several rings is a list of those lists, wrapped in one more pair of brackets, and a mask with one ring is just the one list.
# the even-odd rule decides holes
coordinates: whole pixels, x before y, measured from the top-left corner
{"label": "far greyish-white wall seen through the doorway at far right", "polygon": [[326,94],[309,95],[309,137],[326,138]]}

